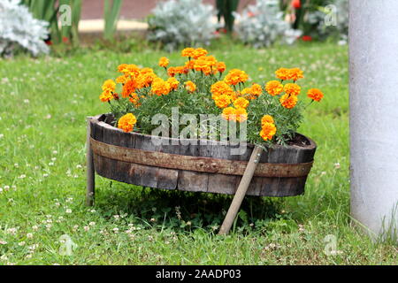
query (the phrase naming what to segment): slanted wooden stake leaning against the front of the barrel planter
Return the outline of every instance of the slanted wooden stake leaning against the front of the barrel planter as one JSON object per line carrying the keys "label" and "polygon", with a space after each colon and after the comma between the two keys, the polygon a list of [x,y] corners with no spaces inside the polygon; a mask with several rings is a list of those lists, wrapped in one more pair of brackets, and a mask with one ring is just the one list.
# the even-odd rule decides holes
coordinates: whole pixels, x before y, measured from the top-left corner
{"label": "slanted wooden stake leaning against the front of the barrel planter", "polygon": [[233,196],[233,202],[226,213],[226,218],[224,219],[223,225],[219,229],[218,234],[224,235],[229,232],[231,226],[233,225],[233,221],[238,214],[239,209],[241,208],[241,202],[248,191],[250,181],[253,178],[254,172],[256,171],[257,164],[260,161],[261,154],[263,153],[263,149],[259,147],[255,147],[249,159],[248,166],[246,167],[245,172],[243,173],[243,177],[241,178],[241,183],[239,184],[238,189],[236,190],[236,194]]}

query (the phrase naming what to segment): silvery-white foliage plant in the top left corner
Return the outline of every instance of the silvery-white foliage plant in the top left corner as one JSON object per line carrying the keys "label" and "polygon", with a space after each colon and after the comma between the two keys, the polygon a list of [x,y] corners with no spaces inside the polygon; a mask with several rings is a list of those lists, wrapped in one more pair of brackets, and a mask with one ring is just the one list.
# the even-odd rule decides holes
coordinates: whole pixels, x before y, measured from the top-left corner
{"label": "silvery-white foliage plant in the top left corner", "polygon": [[48,22],[34,19],[20,0],[0,0],[0,56],[12,56],[16,44],[33,56],[49,53],[44,42],[48,26]]}

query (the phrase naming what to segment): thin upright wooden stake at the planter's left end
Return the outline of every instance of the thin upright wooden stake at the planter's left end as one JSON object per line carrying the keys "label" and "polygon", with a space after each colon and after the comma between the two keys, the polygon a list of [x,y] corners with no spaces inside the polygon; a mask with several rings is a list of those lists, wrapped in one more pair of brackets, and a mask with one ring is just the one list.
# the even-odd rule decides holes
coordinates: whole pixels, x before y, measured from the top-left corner
{"label": "thin upright wooden stake at the planter's left end", "polygon": [[93,159],[93,149],[91,149],[91,119],[88,117],[87,121],[87,139],[86,139],[86,166],[87,166],[87,192],[86,192],[86,205],[94,205],[94,194],[95,194],[95,172],[94,172],[94,159]]}

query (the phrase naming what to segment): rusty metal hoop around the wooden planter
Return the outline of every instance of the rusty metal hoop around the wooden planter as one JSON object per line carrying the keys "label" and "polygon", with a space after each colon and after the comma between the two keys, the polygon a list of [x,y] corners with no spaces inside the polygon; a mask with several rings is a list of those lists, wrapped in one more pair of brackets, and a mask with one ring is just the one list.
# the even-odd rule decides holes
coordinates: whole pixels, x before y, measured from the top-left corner
{"label": "rusty metal hoop around the wooden planter", "polygon": [[[159,151],[129,149],[90,138],[93,153],[127,163],[156,166],[167,169],[209,172],[242,176],[248,162],[211,157],[191,157]],[[260,163],[254,176],[257,177],[305,177],[310,173],[313,162],[300,164]]]}

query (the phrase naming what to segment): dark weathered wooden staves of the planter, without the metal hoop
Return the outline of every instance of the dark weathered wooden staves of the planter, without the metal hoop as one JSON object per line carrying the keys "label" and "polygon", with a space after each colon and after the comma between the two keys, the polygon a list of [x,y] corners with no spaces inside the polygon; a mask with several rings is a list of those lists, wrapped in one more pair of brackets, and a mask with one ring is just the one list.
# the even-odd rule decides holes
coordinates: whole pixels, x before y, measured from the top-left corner
{"label": "dark weathered wooden staves of the planter, without the metal hoop", "polygon": [[[242,155],[231,155],[230,146],[215,141],[200,141],[197,144],[184,144],[184,141],[168,138],[157,138],[157,142],[174,142],[178,145],[155,144],[152,137],[145,134],[124,133],[114,126],[105,123],[106,116],[99,115],[91,120],[91,138],[103,143],[108,143],[127,149],[142,149],[169,153],[173,155],[185,155],[188,157],[210,157],[226,159],[226,163],[240,161],[247,164],[254,146],[248,145],[248,149]],[[181,144],[183,143],[183,144]],[[311,163],[316,150],[316,144],[308,139],[305,146],[276,146],[264,151],[259,167],[264,164],[305,164]],[[139,156],[138,156],[139,157]],[[180,189],[195,192],[222,193],[233,195],[241,180],[241,172],[230,174],[218,172],[194,172],[173,168],[150,166],[137,160],[136,163],[115,160],[111,156],[103,157],[94,153],[96,172],[108,179],[119,180],[129,184],[145,187],[157,187],[164,189]],[[240,163],[241,164],[241,163]],[[236,165],[235,165],[236,166]],[[217,166],[216,166],[217,167]],[[238,166],[239,167],[239,166]],[[226,168],[226,167],[224,167]],[[243,170],[244,171],[244,170]],[[261,175],[261,174],[260,174]],[[284,172],[282,176],[287,176]],[[263,196],[289,196],[301,195],[307,176],[301,177],[261,177],[252,179],[247,195]]]}

